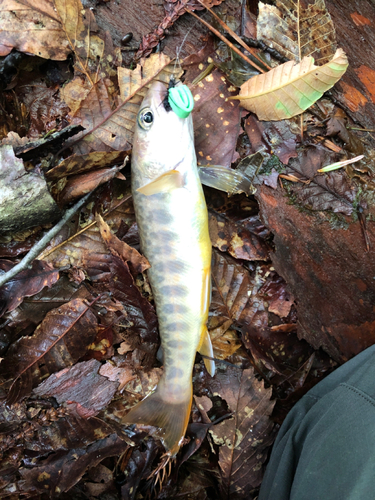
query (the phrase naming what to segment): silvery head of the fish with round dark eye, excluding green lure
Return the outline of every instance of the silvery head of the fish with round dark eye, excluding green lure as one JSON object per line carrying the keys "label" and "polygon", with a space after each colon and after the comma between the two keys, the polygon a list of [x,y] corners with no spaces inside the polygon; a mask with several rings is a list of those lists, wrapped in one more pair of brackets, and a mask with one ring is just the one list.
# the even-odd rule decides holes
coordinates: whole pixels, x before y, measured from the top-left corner
{"label": "silvery head of the fish with round dark eye, excluding green lure", "polygon": [[168,89],[154,82],[148,90],[137,115],[132,169],[141,184],[170,171],[196,165],[194,132],[191,115],[180,118],[166,110],[163,101]]}

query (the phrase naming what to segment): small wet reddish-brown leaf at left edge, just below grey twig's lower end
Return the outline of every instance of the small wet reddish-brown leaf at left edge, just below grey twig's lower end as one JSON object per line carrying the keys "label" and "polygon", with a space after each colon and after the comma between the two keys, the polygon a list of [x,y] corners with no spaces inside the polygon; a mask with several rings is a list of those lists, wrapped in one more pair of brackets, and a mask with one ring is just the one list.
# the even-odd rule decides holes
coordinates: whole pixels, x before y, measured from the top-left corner
{"label": "small wet reddish-brown leaf at left edge, just below grey twig's lower end", "polygon": [[[0,270],[7,272],[14,266],[10,260],[0,260]],[[13,311],[23,301],[39,293],[45,286],[51,287],[59,279],[59,273],[43,261],[34,261],[30,269],[21,271],[0,288],[0,316]]]}

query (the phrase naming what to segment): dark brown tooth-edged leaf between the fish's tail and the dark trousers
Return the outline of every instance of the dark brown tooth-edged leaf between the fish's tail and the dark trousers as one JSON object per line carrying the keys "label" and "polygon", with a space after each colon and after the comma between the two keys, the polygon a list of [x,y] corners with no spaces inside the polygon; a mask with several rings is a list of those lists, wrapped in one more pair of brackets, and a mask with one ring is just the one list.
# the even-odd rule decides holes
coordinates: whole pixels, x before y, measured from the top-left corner
{"label": "dark brown tooth-edged leaf between the fish's tail and the dark trousers", "polygon": [[261,483],[263,464],[273,441],[272,389],[264,388],[252,368],[242,371],[220,365],[210,385],[233,412],[232,418],[209,430],[219,446],[222,498],[252,498],[252,491]]}

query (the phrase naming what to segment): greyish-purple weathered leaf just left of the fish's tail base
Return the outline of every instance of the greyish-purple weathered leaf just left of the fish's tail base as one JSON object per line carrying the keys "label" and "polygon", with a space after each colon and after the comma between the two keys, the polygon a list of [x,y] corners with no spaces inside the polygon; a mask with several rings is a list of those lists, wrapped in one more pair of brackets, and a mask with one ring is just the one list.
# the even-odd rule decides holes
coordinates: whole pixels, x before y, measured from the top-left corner
{"label": "greyish-purple weathered leaf just left of the fish's tail base", "polygon": [[95,359],[77,363],[50,375],[34,389],[34,394],[53,396],[80,417],[93,417],[108,405],[118,388],[117,382],[99,374],[100,367]]}

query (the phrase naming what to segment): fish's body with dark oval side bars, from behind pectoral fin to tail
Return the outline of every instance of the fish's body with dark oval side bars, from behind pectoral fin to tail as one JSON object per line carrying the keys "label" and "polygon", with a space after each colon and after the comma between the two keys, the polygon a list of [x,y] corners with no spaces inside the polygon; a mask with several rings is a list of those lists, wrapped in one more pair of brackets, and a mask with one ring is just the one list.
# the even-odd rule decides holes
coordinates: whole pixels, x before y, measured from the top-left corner
{"label": "fish's body with dark oval side bars, from behind pectoral fin to tail", "polygon": [[191,394],[195,354],[208,314],[211,243],[202,187],[143,196],[135,193],[142,251],[164,354],[163,397]]}

